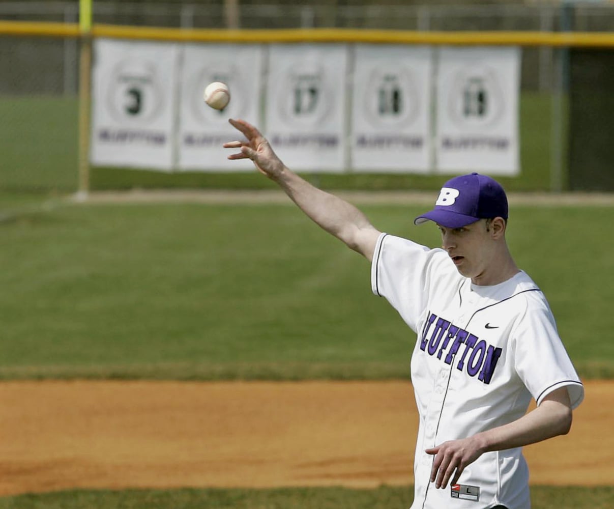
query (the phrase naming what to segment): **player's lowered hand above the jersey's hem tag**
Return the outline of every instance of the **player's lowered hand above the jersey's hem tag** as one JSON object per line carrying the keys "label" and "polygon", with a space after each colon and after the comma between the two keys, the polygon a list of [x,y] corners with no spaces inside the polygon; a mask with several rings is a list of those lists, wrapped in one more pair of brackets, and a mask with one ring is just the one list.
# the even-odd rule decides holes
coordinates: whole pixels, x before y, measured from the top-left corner
{"label": "player's lowered hand above the jersey's hem tag", "polygon": [[476,437],[469,437],[444,442],[425,452],[435,456],[430,481],[435,483],[435,488],[445,488],[449,480],[450,484],[458,483],[465,467],[478,459],[484,451]]}

